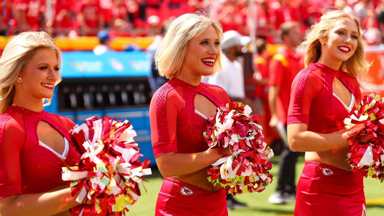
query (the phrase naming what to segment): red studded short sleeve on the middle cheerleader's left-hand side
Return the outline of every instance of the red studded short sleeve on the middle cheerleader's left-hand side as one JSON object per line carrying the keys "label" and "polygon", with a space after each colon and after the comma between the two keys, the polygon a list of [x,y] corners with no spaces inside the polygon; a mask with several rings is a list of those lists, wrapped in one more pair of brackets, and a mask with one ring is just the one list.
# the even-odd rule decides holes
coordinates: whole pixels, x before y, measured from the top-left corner
{"label": "red studded short sleeve on the middle cheerleader's left-hand side", "polygon": [[155,158],[168,152],[177,152],[176,120],[179,113],[177,97],[169,84],[154,94],[149,106],[151,140]]}

